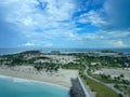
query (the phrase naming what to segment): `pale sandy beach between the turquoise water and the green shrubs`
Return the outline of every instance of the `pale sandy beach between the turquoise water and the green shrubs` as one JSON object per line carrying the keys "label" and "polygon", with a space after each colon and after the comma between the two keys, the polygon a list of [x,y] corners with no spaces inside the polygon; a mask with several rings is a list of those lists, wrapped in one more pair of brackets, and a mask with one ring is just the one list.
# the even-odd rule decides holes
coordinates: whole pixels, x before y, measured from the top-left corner
{"label": "pale sandy beach between the turquoise water and the green shrubs", "polygon": [[69,88],[72,86],[70,79],[77,78],[77,70],[60,69],[57,72],[46,72],[46,70],[37,71],[32,66],[15,66],[15,67],[0,67],[1,75],[15,77],[21,79],[28,79],[41,82],[48,82],[55,85],[61,85]]}

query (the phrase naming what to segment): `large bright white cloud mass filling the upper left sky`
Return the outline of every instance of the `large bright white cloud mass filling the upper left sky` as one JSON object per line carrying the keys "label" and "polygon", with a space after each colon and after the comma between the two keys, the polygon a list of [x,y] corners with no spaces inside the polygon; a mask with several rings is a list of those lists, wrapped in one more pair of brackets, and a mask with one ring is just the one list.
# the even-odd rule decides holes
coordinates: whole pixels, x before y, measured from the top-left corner
{"label": "large bright white cloud mass filling the upper left sky", "polygon": [[[40,3],[42,6],[40,6]],[[15,25],[28,41],[37,42],[55,37],[73,37],[75,24],[72,16],[76,11],[74,0],[8,0],[0,2],[5,22]],[[47,5],[44,4],[47,3]],[[28,43],[29,45],[29,43]]]}

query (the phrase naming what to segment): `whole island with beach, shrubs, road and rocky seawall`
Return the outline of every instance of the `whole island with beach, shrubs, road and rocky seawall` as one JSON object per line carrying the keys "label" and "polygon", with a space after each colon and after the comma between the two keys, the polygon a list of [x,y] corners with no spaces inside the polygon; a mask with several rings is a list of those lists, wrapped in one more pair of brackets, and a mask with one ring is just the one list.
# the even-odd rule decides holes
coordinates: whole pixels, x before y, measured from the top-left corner
{"label": "whole island with beach, shrubs, road and rocky seawall", "polygon": [[129,97],[129,72],[130,55],[113,51],[25,51],[0,56],[0,74],[63,86],[72,97]]}

